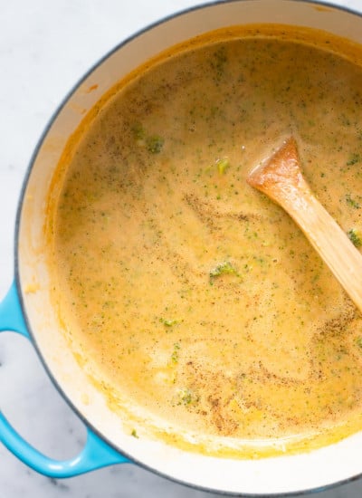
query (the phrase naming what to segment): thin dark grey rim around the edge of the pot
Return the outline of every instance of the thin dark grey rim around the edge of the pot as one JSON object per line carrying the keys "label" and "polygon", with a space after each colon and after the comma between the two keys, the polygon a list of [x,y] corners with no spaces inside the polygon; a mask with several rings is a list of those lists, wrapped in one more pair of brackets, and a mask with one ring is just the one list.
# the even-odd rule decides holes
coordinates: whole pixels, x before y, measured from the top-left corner
{"label": "thin dark grey rim around the edge of the pot", "polygon": [[[80,418],[81,422],[85,426],[89,427],[91,429],[91,431],[93,431],[97,436],[100,437],[100,439],[102,439],[104,442],[106,442],[108,445],[110,445],[111,448],[115,449],[121,455],[126,456],[131,463],[138,464],[140,467],[152,472],[153,474],[157,474],[157,475],[159,475],[163,478],[166,478],[167,480],[172,481],[176,484],[183,484],[186,487],[191,488],[191,489],[202,490],[202,491],[205,491],[206,493],[219,493],[220,495],[224,495],[224,496],[240,496],[240,497],[245,497],[245,498],[258,498],[258,497],[260,498],[262,496],[265,498],[279,498],[279,497],[286,498],[288,496],[304,496],[304,495],[308,495],[310,493],[318,493],[318,492],[322,492],[322,491],[328,491],[330,489],[336,488],[336,487],[341,486],[343,484],[353,483],[362,477],[362,469],[361,469],[361,472],[359,474],[352,475],[351,477],[348,477],[346,479],[342,479],[336,483],[331,483],[331,484],[327,484],[327,485],[320,486],[320,487],[302,489],[300,491],[294,491],[291,493],[234,493],[231,491],[215,490],[214,488],[208,488],[207,486],[202,486],[199,484],[193,484],[193,483],[184,481],[181,478],[176,478],[172,475],[163,473],[163,472],[159,471],[157,468],[154,468],[149,464],[145,464],[142,461],[139,461],[134,456],[129,455],[127,451],[124,451],[123,449],[119,449],[119,447],[117,445],[115,445],[108,437],[103,436],[100,433],[100,430],[98,430],[95,426],[92,426],[90,424],[90,422],[88,421],[88,419],[86,417],[84,417],[81,414],[80,410],[72,403],[71,398],[67,396],[67,394],[64,392],[64,390],[61,388],[61,386],[60,386],[59,382],[57,381],[57,379],[55,378],[55,376],[52,374],[52,371],[49,369],[48,364],[46,362],[46,359],[43,357],[43,353],[41,352],[40,347],[38,345],[38,342],[35,338],[35,334],[33,333],[30,321],[28,320],[28,316],[26,313],[26,307],[24,304],[22,285],[20,283],[20,272],[19,272],[18,247],[19,247],[19,237],[20,237],[20,223],[21,223],[21,217],[22,217],[22,212],[23,212],[25,191],[26,191],[26,187],[28,185],[29,179],[32,175],[33,165],[36,161],[36,158],[39,154],[40,149],[43,146],[44,140],[48,136],[50,129],[52,129],[53,123],[55,122],[55,120],[57,120],[58,116],[61,114],[64,107],[68,104],[68,101],[70,101],[71,97],[79,89],[81,84],[84,81],[86,81],[87,78],[90,76],[90,74],[92,72],[94,72],[96,69],[98,69],[101,66],[101,64],[103,62],[107,61],[114,53],[118,52],[122,47],[126,46],[127,44],[133,42],[133,40],[137,39],[138,36],[145,34],[154,28],[157,28],[157,26],[162,25],[162,24],[166,24],[168,21],[171,21],[177,17],[181,17],[185,14],[189,14],[191,12],[198,11],[198,10],[203,10],[207,7],[213,7],[215,5],[223,5],[223,4],[226,5],[226,4],[232,4],[232,3],[238,3],[238,2],[243,3],[245,1],[250,1],[250,0],[208,0],[208,1],[205,1],[203,4],[186,7],[182,10],[176,11],[175,13],[168,14],[164,17],[161,17],[157,21],[150,23],[141,29],[138,29],[138,31],[136,31],[134,34],[130,34],[127,38],[125,38],[124,40],[122,40],[121,42],[116,44],[112,49],[110,49],[110,51],[108,51],[102,57],[100,57],[99,60],[94,62],[90,66],[90,69],[87,72],[85,72],[81,76],[81,78],[72,85],[70,91],[68,91],[65,94],[65,96],[62,98],[62,101],[60,102],[60,104],[56,107],[56,109],[52,112],[51,117],[47,120],[47,123],[43,129],[43,132],[42,132],[40,138],[38,139],[35,147],[33,148],[33,153],[31,155],[31,158],[29,159],[28,166],[27,166],[25,174],[24,174],[24,180],[23,180],[23,184],[22,184],[21,191],[20,191],[19,198],[18,198],[18,202],[17,202],[15,225],[14,225],[14,282],[16,285],[16,290],[17,290],[17,294],[18,294],[18,298],[19,298],[19,302],[20,302],[20,306],[21,306],[21,311],[23,313],[24,322],[25,322],[26,328],[29,332],[30,339],[32,340],[33,348],[35,349],[36,354],[37,354],[38,358],[40,359],[40,361],[43,365],[43,369],[45,370],[48,378],[51,379],[52,385],[54,386],[54,388],[57,389],[59,394],[62,396],[63,400],[71,408],[71,411],[77,417]],[[260,0],[253,0],[253,1],[258,2]],[[320,5],[322,7],[327,7],[327,8],[329,7],[332,9],[337,9],[339,11],[347,12],[349,14],[353,14],[357,17],[362,18],[362,10],[361,10],[361,12],[358,12],[358,11],[354,10],[353,8],[350,8],[349,6],[333,4],[333,3],[330,3],[328,0],[281,0],[281,1],[282,2],[296,2],[296,3],[300,3],[300,4]]]}

